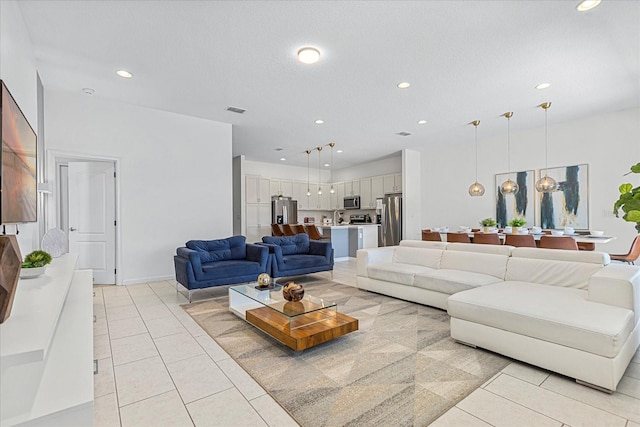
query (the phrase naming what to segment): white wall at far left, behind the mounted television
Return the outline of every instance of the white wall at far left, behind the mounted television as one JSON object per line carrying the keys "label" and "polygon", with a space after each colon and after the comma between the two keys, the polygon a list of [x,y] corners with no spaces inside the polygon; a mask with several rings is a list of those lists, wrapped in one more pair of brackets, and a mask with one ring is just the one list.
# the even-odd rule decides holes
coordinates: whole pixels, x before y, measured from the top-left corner
{"label": "white wall at far left, behind the mounted television", "polygon": [[[15,1],[0,1],[0,79],[2,79],[38,133],[36,60],[22,12]],[[38,212],[40,216],[40,212]],[[39,218],[40,220],[40,218]],[[38,249],[37,223],[19,225],[18,244],[24,257]],[[7,233],[14,234],[15,226],[7,226]]]}

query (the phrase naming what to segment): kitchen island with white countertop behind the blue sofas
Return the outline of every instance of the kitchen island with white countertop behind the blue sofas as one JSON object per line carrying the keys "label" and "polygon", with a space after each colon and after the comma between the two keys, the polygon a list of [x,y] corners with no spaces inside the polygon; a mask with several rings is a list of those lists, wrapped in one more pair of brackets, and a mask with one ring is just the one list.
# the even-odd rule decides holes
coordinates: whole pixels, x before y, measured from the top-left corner
{"label": "kitchen island with white countertop behind the blue sofas", "polygon": [[378,247],[378,224],[346,224],[318,226],[321,233],[331,239],[333,257],[355,258],[358,249]]}

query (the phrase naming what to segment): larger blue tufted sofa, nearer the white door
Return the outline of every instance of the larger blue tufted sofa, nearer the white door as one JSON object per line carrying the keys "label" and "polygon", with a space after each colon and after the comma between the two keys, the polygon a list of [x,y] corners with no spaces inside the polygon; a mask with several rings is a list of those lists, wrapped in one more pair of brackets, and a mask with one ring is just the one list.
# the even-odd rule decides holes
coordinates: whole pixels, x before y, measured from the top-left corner
{"label": "larger blue tufted sofa, nearer the white door", "polygon": [[255,281],[270,268],[269,250],[244,236],[189,240],[176,253],[176,280],[189,290],[189,302],[194,289]]}

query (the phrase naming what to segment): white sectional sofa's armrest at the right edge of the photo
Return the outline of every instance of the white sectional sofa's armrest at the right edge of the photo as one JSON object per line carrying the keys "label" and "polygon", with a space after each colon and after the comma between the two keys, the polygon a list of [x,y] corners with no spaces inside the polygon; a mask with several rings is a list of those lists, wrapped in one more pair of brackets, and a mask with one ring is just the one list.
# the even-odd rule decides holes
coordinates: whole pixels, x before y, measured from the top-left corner
{"label": "white sectional sofa's armrest at the right edge of the photo", "polygon": [[589,301],[632,310],[640,320],[640,267],[609,264],[589,279]]}

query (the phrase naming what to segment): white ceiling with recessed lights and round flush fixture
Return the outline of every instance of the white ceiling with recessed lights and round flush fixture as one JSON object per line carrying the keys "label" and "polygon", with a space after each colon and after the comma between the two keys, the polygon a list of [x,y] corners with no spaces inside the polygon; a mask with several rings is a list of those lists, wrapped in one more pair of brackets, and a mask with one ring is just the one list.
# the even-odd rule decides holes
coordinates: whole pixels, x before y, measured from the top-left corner
{"label": "white ceiling with recessed lights and round flush fixture", "polygon": [[[340,169],[470,148],[475,119],[480,140],[505,138],[509,110],[513,132],[541,127],[548,100],[550,124],[640,106],[638,1],[19,4],[45,87],[232,123],[233,154],[254,161],[306,166],[305,149],[334,141]],[[320,62],[296,61],[306,45]]]}

